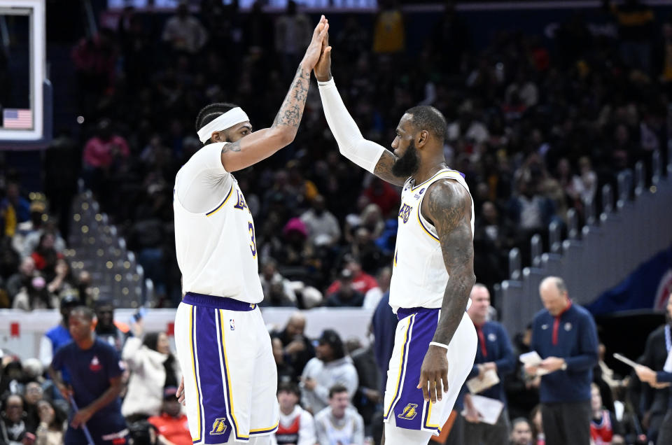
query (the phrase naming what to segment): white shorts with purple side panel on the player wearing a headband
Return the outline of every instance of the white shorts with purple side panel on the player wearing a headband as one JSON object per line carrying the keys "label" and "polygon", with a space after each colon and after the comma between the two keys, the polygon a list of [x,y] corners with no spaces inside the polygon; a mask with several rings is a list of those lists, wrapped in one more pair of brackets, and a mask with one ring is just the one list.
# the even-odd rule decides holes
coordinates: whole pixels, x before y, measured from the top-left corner
{"label": "white shorts with purple side panel on the player wearing a headband", "polygon": [[194,444],[248,442],[277,430],[276,365],[255,304],[188,292],[175,344]]}

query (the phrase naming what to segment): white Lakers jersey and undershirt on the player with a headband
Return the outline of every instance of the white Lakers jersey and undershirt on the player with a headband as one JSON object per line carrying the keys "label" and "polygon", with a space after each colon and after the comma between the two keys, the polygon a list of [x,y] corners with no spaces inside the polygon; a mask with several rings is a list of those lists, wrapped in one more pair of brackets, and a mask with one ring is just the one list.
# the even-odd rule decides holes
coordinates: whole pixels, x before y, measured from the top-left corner
{"label": "white Lakers jersey and undershirt on the player with a headband", "polygon": [[[182,292],[258,303],[263,299],[252,214],[238,182],[221,164],[223,143],[199,150],[175,178],[175,249]],[[209,207],[194,211],[180,202],[207,197]],[[190,210],[187,210],[190,209]]]}

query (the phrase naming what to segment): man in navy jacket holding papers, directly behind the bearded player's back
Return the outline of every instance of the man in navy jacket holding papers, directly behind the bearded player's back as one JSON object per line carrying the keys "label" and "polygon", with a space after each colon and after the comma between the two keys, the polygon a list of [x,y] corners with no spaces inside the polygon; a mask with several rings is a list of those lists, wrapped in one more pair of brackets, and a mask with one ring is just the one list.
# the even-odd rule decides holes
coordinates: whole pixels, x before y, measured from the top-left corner
{"label": "man in navy jacket holding papers, directly behind the bearded player's back", "polygon": [[[466,381],[469,393],[464,398],[464,444],[505,444],[510,424],[501,380],[513,372],[516,359],[504,327],[496,321],[487,320],[490,307],[488,288],[477,283],[469,297],[471,306],[467,313],[476,327],[478,344],[474,367]],[[472,397],[472,394],[481,397]],[[482,407],[482,404],[486,406]],[[488,423],[484,416],[489,407],[497,407],[500,411],[492,423]]]}

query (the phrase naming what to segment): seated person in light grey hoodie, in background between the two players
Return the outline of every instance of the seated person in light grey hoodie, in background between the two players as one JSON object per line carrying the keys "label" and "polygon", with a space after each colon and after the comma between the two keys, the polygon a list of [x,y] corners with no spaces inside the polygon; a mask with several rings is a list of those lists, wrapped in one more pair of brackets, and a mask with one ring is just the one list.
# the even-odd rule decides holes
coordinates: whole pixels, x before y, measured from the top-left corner
{"label": "seated person in light grey hoodie, in background between the two players", "polygon": [[302,405],[311,413],[318,413],[329,403],[329,388],[343,385],[353,397],[358,387],[357,370],[345,355],[343,341],[334,330],[324,330],[311,358],[301,374]]}

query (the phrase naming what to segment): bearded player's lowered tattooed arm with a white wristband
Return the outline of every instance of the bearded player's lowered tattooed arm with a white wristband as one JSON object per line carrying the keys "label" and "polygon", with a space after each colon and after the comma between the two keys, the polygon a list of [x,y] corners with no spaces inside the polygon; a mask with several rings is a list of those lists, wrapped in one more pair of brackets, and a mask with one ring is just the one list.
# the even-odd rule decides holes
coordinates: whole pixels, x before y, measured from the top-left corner
{"label": "bearded player's lowered tattooed arm with a white wristband", "polygon": [[[471,233],[471,197],[462,185],[451,179],[430,185],[423,199],[423,216],[436,227],[443,253],[443,262],[450,276],[443,295],[441,317],[432,341],[450,343],[464,311],[469,293],[476,282],[474,275],[474,243]],[[422,362],[418,388],[425,400],[441,400],[448,390],[446,350],[429,346]]]}

